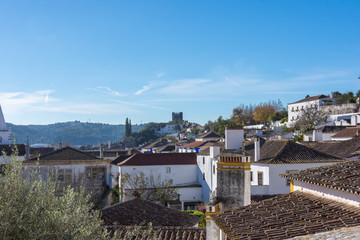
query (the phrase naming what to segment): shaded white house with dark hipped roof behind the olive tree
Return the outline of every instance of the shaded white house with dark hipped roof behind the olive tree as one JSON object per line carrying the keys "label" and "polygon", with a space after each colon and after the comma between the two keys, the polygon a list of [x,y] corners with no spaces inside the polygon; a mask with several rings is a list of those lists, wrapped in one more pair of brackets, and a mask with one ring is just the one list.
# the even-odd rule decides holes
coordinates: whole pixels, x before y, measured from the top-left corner
{"label": "shaded white house with dark hipped roof behind the olive tree", "polygon": [[23,161],[28,169],[39,167],[40,174],[46,180],[51,174],[57,174],[61,195],[64,187],[83,186],[85,192],[92,194],[92,201],[98,208],[106,207],[111,202],[110,189],[117,184],[118,168],[110,165],[110,160],[100,159],[71,147],[58,149],[51,153]]}

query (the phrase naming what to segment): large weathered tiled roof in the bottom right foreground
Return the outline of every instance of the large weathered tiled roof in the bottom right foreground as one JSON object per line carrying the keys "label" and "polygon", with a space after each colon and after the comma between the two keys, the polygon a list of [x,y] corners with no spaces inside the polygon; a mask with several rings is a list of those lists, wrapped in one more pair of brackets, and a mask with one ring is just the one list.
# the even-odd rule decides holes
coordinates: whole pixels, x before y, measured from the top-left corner
{"label": "large weathered tiled roof in the bottom right foreground", "polygon": [[286,239],[360,225],[360,209],[303,192],[213,216],[229,239]]}

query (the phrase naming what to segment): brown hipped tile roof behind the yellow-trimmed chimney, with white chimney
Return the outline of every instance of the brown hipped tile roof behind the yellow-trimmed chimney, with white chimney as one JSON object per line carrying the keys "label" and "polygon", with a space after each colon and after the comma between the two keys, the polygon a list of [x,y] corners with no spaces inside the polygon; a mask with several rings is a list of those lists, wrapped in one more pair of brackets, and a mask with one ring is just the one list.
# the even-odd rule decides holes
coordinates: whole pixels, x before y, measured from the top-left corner
{"label": "brown hipped tile roof behind the yellow-trimmed chimney, with white chimney", "polygon": [[[254,142],[245,145],[246,153],[254,162]],[[343,159],[316,151],[304,145],[289,140],[260,141],[260,160],[257,163],[322,163],[342,162]]]}

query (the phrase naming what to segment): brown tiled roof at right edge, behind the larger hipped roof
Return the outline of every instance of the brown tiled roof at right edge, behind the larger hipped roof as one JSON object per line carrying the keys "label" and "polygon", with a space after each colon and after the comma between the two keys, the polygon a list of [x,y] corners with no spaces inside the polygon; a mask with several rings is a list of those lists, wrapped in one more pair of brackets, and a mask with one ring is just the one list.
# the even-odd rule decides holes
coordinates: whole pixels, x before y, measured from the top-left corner
{"label": "brown tiled roof at right edge, behind the larger hipped roof", "polygon": [[360,136],[346,141],[302,142],[301,144],[339,158],[351,158],[360,155]]}

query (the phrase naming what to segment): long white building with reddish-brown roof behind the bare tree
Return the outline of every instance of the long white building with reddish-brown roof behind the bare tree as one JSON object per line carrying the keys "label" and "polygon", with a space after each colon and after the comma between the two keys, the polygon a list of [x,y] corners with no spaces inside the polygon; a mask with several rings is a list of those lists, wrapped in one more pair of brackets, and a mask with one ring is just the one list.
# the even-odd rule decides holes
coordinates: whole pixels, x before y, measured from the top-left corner
{"label": "long white building with reddish-brown roof behind the bare tree", "polygon": [[[198,167],[194,153],[135,154],[117,164],[119,166],[119,186],[125,174],[139,176],[141,173],[150,178],[172,180],[178,190],[181,209],[192,208],[202,202],[201,185],[198,182]],[[124,191],[132,189],[124,186]],[[124,194],[121,202],[129,200]]]}

